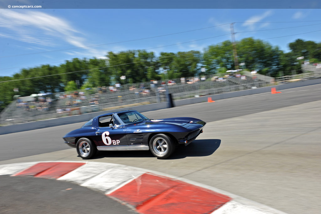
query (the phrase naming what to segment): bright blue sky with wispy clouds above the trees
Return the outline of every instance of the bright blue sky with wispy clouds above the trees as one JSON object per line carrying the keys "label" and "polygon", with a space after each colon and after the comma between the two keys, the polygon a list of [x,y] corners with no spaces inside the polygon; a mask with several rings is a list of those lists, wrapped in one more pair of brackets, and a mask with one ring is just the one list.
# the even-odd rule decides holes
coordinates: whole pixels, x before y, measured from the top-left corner
{"label": "bright blue sky with wispy clouds above the trees", "polygon": [[[321,21],[303,21],[321,20],[320,14],[320,9],[0,9],[0,76],[41,64],[59,65],[76,57],[104,58],[107,51],[148,49],[156,55],[162,51],[202,51],[208,45],[230,40],[230,35],[220,36],[230,33],[229,24],[211,26],[232,22],[242,22],[235,23],[235,32],[310,25],[237,33],[237,40],[317,31]],[[211,28],[121,42],[206,27]],[[289,51],[289,42],[298,38],[321,42],[320,35],[321,31],[265,41]],[[189,42],[214,36],[219,37]],[[82,48],[112,42],[121,43]],[[178,44],[182,42],[188,43]],[[172,46],[156,48],[165,45]],[[77,49],[56,51],[71,48]]]}

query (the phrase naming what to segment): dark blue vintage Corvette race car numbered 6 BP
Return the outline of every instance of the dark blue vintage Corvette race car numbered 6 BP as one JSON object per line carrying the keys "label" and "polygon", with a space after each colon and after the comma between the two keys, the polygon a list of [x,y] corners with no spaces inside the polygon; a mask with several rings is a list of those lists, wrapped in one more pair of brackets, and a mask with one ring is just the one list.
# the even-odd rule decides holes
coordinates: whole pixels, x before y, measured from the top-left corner
{"label": "dark blue vintage Corvette race car numbered 6 BP", "polygon": [[134,110],[111,112],[92,118],[66,134],[66,144],[83,159],[97,150],[151,150],[159,159],[169,157],[178,144],[189,144],[203,132],[205,122],[192,117],[153,120]]}

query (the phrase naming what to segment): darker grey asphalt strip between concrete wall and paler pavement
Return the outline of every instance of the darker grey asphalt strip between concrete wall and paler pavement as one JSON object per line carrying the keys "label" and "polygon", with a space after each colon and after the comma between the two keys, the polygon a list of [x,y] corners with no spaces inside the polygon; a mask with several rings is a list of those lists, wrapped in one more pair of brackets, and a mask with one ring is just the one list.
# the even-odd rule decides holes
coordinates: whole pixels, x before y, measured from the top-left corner
{"label": "darker grey asphalt strip between concrete wall and paler pavement", "polygon": [[[144,112],[152,119],[177,116],[195,117],[205,122],[244,116],[282,107],[294,106],[321,99],[321,85],[282,90],[280,94],[262,93],[238,98],[217,100],[215,103],[198,103],[157,111]],[[293,91],[293,92],[292,92]],[[0,135],[2,149],[0,161],[43,154],[69,148],[62,137],[84,123],[68,124],[25,132]]]}

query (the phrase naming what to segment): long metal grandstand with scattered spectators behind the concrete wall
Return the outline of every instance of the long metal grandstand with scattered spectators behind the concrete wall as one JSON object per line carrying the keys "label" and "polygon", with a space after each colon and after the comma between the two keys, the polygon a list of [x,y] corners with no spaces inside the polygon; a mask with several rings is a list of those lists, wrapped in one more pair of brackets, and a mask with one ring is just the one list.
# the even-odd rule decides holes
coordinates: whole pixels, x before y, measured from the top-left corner
{"label": "long metal grandstand with scattered spectators behind the concrete wall", "polygon": [[271,85],[273,78],[263,75],[252,76],[242,71],[242,77],[235,75],[214,74],[202,76],[201,79],[190,77],[184,81],[171,79],[121,87],[99,87],[88,90],[60,92],[50,95],[51,103],[28,102],[21,105],[13,100],[0,113],[0,124],[10,125],[63,116],[108,111],[123,107],[133,107],[166,101],[166,90],[174,100],[194,98],[260,88]]}

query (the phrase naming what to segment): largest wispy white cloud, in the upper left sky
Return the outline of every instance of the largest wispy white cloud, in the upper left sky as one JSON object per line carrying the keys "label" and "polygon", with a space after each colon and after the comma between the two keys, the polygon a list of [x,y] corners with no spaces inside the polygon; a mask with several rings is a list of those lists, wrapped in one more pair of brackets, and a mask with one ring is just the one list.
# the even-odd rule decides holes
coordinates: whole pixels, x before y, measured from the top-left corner
{"label": "largest wispy white cloud, in the upper left sky", "polygon": [[84,34],[76,30],[66,20],[39,11],[16,12],[1,9],[0,28],[11,32],[0,34],[0,37],[48,47],[56,46],[58,40],[60,43],[66,42],[74,47],[83,47],[91,55],[101,52],[94,48],[85,47],[90,44],[86,42]]}

